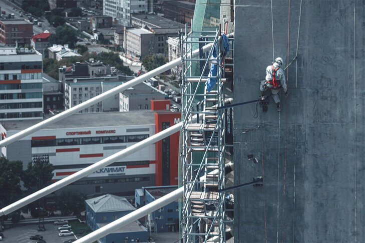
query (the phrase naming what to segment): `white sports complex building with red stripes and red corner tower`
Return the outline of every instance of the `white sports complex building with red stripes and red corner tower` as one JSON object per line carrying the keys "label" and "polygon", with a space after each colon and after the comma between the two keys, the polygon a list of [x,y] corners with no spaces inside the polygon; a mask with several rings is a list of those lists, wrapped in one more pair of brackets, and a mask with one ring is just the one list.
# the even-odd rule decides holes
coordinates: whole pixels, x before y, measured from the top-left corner
{"label": "white sports complex building with red stripes and red corner tower", "polygon": [[[155,110],[77,113],[2,148],[10,160],[47,160],[53,164],[53,181],[102,160],[126,147],[179,122],[180,112],[166,110],[170,100],[151,100]],[[160,109],[161,108],[161,109]],[[2,139],[37,123],[5,121]],[[89,176],[69,188],[87,194],[128,193],[151,185],[177,184],[179,134],[143,148]]]}

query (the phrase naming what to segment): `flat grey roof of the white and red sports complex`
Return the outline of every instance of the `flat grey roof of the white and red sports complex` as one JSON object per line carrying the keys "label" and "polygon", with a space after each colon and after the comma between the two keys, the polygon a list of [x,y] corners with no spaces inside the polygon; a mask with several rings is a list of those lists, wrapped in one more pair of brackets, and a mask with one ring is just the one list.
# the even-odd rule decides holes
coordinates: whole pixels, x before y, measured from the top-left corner
{"label": "flat grey roof of the white and red sports complex", "polygon": [[[39,120],[14,120],[1,121],[5,129],[23,130]],[[139,110],[128,112],[97,112],[97,113],[76,113],[58,121],[47,128],[80,128],[80,127],[100,127],[117,125],[146,125],[155,124],[155,112],[152,110]]]}

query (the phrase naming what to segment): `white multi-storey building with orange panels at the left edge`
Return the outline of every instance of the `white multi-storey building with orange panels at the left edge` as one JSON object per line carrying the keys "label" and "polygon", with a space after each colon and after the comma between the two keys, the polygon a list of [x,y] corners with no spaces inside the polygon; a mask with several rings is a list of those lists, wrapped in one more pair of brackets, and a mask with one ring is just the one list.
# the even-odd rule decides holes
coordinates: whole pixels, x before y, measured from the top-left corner
{"label": "white multi-storey building with orange panels at the left edge", "polygon": [[42,112],[42,54],[0,47],[0,119],[37,119]]}

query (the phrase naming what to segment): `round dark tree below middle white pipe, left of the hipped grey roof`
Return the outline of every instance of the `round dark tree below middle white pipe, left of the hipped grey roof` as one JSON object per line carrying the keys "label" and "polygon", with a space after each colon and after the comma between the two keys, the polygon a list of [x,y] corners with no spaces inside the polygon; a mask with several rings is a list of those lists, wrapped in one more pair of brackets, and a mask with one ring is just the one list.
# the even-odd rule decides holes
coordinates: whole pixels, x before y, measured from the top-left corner
{"label": "round dark tree below middle white pipe, left of the hipped grey roof", "polygon": [[86,196],[83,193],[64,190],[56,196],[56,203],[63,215],[78,215],[85,210]]}

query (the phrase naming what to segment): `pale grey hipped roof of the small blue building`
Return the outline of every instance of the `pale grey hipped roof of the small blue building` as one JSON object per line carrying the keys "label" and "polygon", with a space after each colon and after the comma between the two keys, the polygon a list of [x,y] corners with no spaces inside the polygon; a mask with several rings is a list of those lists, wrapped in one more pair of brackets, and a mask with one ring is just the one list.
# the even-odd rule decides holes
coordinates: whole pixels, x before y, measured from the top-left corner
{"label": "pale grey hipped roof of the small blue building", "polygon": [[85,200],[94,212],[130,211],[136,208],[125,197],[106,194]]}

